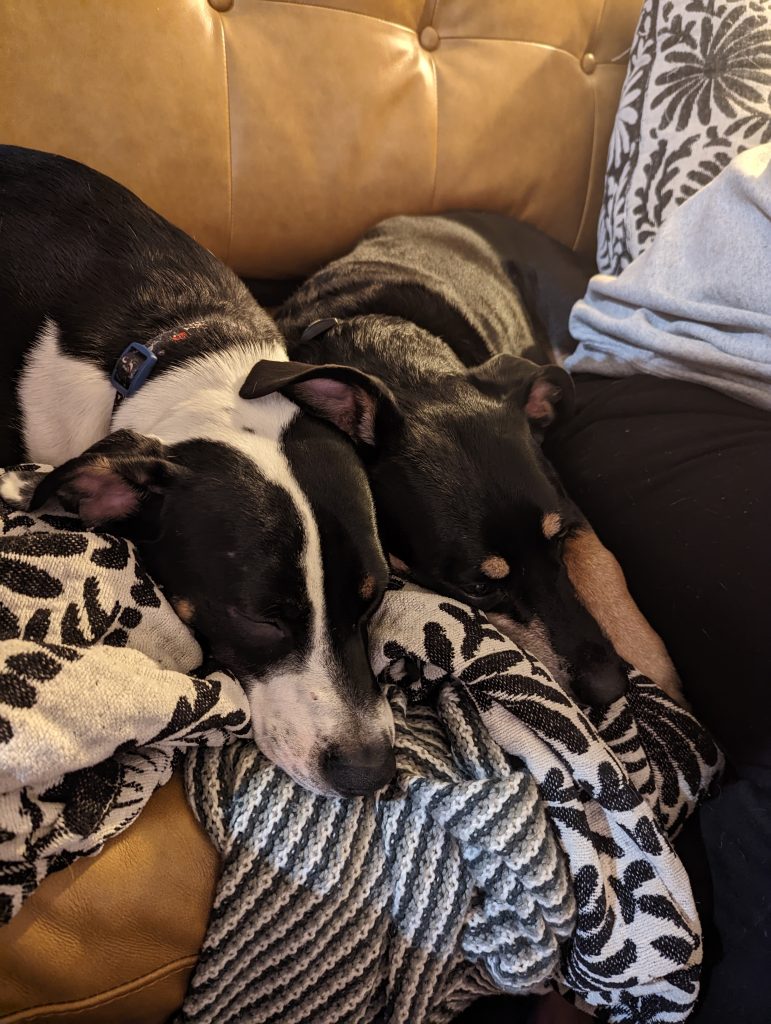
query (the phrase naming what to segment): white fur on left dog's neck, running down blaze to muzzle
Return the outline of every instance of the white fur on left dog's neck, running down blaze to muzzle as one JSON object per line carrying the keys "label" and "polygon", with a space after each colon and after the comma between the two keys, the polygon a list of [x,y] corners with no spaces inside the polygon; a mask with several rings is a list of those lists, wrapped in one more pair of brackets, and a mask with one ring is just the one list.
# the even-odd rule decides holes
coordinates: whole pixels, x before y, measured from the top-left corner
{"label": "white fur on left dog's neck, running down blaze to muzzle", "polygon": [[[281,349],[266,358],[286,359]],[[254,351],[230,349],[190,360],[151,380],[116,417],[115,428],[153,431],[167,443],[206,437],[246,455],[292,499],[303,528],[300,564],[310,603],[310,638],[301,664],[290,657],[282,670],[259,680],[242,680],[252,712],[257,745],[306,788],[332,793],[322,776],[320,757],[330,746],[393,739],[393,717],[385,696],[355,708],[332,653],[324,593],[318,528],[310,504],[292,473],[282,438],[300,411],[280,394],[239,397],[255,361]],[[165,412],[160,413],[159,410]]]}

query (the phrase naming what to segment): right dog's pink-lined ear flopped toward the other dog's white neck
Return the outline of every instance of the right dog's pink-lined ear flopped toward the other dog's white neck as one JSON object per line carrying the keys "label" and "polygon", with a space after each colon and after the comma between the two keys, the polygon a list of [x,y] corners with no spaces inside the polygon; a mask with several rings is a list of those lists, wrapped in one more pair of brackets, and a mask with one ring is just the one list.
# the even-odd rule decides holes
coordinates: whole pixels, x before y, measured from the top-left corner
{"label": "right dog's pink-lined ear flopped toward the other dog's white neck", "polygon": [[353,367],[261,359],[239,394],[262,398],[274,391],[343,430],[354,440],[375,444],[377,420],[396,412],[396,401],[377,377]]}

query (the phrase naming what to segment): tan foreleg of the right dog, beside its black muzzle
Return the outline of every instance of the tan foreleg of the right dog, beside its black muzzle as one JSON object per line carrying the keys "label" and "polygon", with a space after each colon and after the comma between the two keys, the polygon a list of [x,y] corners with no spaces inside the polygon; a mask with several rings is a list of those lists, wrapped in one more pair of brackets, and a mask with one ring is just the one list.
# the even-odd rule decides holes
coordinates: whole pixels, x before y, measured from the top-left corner
{"label": "tan foreleg of the right dog, beside its black muzzle", "polygon": [[591,526],[574,531],[563,553],[570,583],[582,604],[616,653],[687,707],[680,678],[661,638],[637,607],[624,571]]}

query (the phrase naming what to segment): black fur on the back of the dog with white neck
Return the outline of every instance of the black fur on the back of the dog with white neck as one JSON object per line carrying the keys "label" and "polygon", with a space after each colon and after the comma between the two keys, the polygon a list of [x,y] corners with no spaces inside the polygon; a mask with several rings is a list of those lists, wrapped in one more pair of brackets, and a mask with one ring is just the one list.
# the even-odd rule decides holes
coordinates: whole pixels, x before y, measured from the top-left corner
{"label": "black fur on the back of the dog with white neck", "polygon": [[169,351],[156,375],[271,335],[267,315],[234,273],[128,189],[82,164],[0,146],[0,213],[2,465],[22,455],[14,385],[45,317],[58,325],[63,351],[105,374],[130,342],[194,319],[205,318],[206,330],[195,344]]}

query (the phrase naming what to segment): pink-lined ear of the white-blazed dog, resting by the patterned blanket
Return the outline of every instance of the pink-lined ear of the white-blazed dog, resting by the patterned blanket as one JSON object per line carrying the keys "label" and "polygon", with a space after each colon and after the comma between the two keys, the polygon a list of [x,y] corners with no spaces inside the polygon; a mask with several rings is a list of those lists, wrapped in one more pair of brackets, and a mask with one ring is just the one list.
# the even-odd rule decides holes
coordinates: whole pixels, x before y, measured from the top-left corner
{"label": "pink-lined ear of the white-blazed dog, resting by the patterned blanket", "polygon": [[159,438],[118,430],[51,470],[36,487],[30,508],[55,495],[89,526],[130,519],[143,497],[163,493],[182,473]]}

